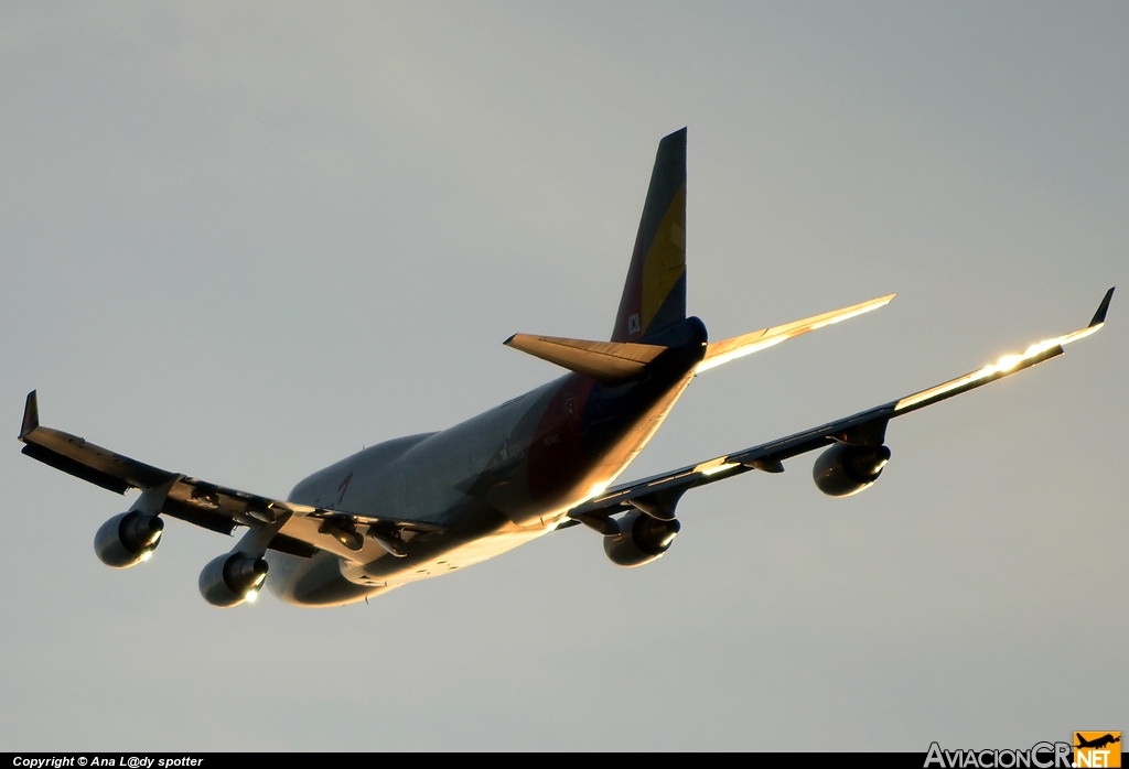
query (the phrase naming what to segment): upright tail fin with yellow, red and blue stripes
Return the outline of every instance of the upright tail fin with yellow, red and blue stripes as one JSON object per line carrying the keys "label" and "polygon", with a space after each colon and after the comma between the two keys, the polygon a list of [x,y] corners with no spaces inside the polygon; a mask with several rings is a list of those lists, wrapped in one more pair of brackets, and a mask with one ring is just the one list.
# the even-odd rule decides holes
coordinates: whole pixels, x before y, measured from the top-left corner
{"label": "upright tail fin with yellow, red and blue stripes", "polygon": [[612,342],[639,342],[686,317],[686,130],[658,143]]}

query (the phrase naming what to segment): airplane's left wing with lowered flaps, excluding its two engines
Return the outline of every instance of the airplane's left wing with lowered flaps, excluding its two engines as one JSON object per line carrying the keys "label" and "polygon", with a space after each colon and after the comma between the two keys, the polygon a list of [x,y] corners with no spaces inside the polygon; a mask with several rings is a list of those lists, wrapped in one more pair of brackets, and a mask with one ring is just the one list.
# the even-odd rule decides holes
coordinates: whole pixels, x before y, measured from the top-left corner
{"label": "airplane's left wing with lowered flaps, excluding its two engines", "polygon": [[40,425],[38,398],[34,390],[27,395],[19,440],[24,442],[24,453],[28,457],[119,494],[130,488],[145,490],[170,483],[161,512],[204,529],[230,534],[236,527],[257,528],[287,516],[269,547],[306,558],[317,550],[356,558],[365,542],[364,536],[357,533],[358,527],[367,527],[369,536],[390,551],[399,549],[404,532],[441,530],[419,521],[360,515],[273,500],[139,462],[77,435]]}

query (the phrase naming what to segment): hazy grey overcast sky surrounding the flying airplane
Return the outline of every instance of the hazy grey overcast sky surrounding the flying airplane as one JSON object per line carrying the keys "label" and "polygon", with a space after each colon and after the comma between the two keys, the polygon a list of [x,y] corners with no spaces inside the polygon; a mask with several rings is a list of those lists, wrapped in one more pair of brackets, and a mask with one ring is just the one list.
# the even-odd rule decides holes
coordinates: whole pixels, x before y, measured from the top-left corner
{"label": "hazy grey overcast sky surrounding the flying airplane", "polygon": [[[712,338],[898,292],[697,379],[624,479],[1086,324],[1129,292],[1123,3],[0,6],[0,745],[1030,746],[1129,730],[1129,295],[1030,372],[688,495],[659,562],[570,529],[373,601],[208,606],[233,541],[19,454],[44,424],[268,495],[606,338],[689,126]],[[1119,565],[1120,564],[1120,565]]]}

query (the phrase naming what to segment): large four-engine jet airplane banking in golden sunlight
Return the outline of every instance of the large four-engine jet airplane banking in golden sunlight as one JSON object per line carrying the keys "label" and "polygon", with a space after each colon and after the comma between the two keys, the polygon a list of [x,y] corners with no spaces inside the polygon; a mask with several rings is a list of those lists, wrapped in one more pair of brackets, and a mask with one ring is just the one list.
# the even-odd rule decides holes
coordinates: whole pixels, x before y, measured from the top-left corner
{"label": "large four-engine jet airplane banking in golden sunlight", "polygon": [[890,460],[890,419],[1056,357],[1105,321],[1113,289],[1088,326],[1023,353],[769,443],[613,485],[697,374],[893,299],[709,342],[704,324],[686,316],[685,162],[682,129],[659,142],[610,339],[515,334],[507,346],[568,373],[462,424],[368,447],[299,481],[286,500],[156,468],[44,427],[34,390],[23,452],[119,494],[140,489],[95,536],[108,566],[148,559],[161,541],[163,516],[229,536],[245,528],[200,573],[205,601],[238,606],[265,585],[292,604],[342,606],[577,524],[603,536],[614,564],[641,566],[669,549],[683,494],[751,470],[781,472],[785,461],[816,449],[824,449],[813,469],[820,490],[857,494]]}

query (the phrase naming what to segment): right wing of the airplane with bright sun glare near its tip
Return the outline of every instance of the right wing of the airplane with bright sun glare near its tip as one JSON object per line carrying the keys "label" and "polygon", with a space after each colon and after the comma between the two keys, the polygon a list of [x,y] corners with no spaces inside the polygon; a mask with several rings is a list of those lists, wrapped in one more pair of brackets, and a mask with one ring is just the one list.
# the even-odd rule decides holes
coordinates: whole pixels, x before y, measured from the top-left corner
{"label": "right wing of the airplane with bright sun glare near its tip", "polygon": [[833,443],[848,445],[881,445],[890,419],[931,406],[935,403],[975,389],[1004,377],[1023,371],[1038,363],[1062,354],[1062,347],[1089,336],[1105,322],[1113,289],[1102,299],[1089,325],[1077,332],[1035,343],[1022,354],[1005,355],[963,377],[914,392],[889,404],[876,406],[854,416],[829,422],[825,425],[781,437],[769,443],[714,457],[697,465],[688,465],[671,472],[621,484],[574,507],[569,518],[603,531],[606,519],[628,510],[638,509],[656,518],[673,518],[674,505],[685,492],[717,480],[763,470],[782,472],[784,460]]}

